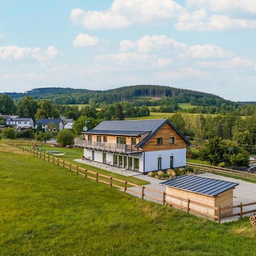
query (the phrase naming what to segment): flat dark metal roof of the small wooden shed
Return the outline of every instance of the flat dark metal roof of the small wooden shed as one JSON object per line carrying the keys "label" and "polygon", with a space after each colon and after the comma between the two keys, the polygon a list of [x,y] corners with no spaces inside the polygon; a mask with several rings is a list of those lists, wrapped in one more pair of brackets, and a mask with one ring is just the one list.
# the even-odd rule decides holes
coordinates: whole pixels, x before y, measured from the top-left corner
{"label": "flat dark metal roof of the small wooden shed", "polygon": [[175,177],[171,180],[163,181],[160,184],[167,185],[168,187],[172,188],[183,189],[185,191],[200,193],[207,196],[217,196],[218,194],[239,185],[239,183],[188,174]]}

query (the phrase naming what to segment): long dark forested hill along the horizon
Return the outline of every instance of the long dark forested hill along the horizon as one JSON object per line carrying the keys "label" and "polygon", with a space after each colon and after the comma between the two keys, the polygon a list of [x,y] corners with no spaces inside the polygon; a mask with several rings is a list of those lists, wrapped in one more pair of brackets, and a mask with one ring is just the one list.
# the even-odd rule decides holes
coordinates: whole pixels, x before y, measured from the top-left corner
{"label": "long dark forested hill along the horizon", "polygon": [[[196,90],[180,89],[160,85],[132,85],[109,90],[87,90],[72,88],[37,88],[25,93],[7,93],[14,100],[24,96],[32,96],[35,99],[48,98],[57,104],[113,104],[120,101],[134,102],[135,105],[169,105],[169,101],[189,102],[192,105],[221,106],[244,105],[245,102],[225,100],[211,93],[197,92]],[[163,99],[164,100],[163,102]],[[169,103],[168,103],[169,102]],[[237,107],[237,106],[236,106]]]}

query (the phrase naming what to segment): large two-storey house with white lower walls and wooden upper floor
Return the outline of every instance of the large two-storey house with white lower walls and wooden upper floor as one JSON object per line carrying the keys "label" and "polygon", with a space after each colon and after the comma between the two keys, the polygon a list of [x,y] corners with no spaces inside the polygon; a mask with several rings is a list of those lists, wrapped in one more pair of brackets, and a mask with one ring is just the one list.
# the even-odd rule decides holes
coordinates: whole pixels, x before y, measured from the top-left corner
{"label": "large two-storey house with white lower walls and wooden upper floor", "polygon": [[189,141],[168,119],[103,121],[83,134],[92,161],[143,174],[186,164]]}

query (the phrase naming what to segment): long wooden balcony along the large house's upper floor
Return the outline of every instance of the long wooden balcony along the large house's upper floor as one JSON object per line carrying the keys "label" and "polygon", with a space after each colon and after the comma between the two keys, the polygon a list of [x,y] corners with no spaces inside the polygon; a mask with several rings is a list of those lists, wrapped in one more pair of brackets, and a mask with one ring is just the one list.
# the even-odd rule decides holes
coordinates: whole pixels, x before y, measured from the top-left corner
{"label": "long wooden balcony along the large house's upper floor", "polygon": [[88,148],[90,150],[100,150],[105,152],[121,153],[121,154],[142,154],[135,145],[132,144],[118,144],[108,142],[94,142],[82,139],[75,139],[75,146],[81,148]]}

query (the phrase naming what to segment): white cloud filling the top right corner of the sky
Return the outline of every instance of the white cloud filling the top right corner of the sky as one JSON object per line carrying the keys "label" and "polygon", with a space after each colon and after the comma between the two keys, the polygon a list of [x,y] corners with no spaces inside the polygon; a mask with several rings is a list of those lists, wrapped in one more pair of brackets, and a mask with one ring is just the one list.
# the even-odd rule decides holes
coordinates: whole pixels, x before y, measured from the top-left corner
{"label": "white cloud filling the top right corner of the sky", "polygon": [[201,7],[213,12],[246,11],[256,13],[255,0],[187,0],[188,7]]}

